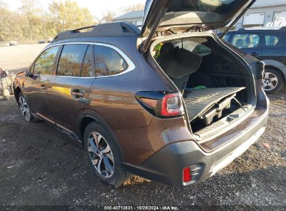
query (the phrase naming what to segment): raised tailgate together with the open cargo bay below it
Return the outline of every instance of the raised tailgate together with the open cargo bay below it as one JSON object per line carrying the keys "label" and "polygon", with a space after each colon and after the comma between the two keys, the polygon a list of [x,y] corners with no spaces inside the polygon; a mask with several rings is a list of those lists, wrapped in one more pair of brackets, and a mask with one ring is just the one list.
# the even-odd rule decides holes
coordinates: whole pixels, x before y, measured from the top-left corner
{"label": "raised tailgate together with the open cargo bay below it", "polygon": [[191,132],[199,143],[223,133],[255,105],[253,74],[248,64],[215,35],[205,32],[233,24],[254,2],[146,3],[139,49],[149,53],[181,92]]}

